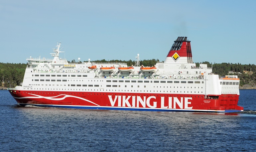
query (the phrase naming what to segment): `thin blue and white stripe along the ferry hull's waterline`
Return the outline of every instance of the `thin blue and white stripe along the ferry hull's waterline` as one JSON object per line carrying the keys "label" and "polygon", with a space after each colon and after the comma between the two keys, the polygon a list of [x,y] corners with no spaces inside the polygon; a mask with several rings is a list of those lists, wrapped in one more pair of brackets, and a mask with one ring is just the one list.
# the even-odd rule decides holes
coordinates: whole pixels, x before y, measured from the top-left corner
{"label": "thin blue and white stripe along the ferry hull's waterline", "polygon": [[20,106],[33,105],[38,107],[51,107],[51,108],[69,108],[69,109],[96,109],[96,110],[127,110],[127,111],[161,111],[161,112],[224,112],[224,111],[213,111],[213,110],[186,110],[186,109],[144,109],[144,108],[116,108],[116,107],[87,107],[87,106],[68,106],[68,105],[45,105],[45,104],[22,104]]}

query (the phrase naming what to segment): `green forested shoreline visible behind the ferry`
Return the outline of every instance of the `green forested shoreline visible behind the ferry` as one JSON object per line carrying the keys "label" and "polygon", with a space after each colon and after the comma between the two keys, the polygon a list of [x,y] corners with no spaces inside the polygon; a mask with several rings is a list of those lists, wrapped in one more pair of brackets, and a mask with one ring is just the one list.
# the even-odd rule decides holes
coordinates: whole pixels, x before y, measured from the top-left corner
{"label": "green forested shoreline visible behind the ferry", "polygon": [[[141,60],[140,65],[143,66],[154,66],[158,59]],[[71,62],[75,62],[72,60]],[[95,60],[91,62],[115,62],[115,63],[127,63],[128,66],[134,65],[135,61],[132,60]],[[225,75],[238,75],[240,78],[240,89],[256,89],[256,65],[254,64],[241,64],[241,63],[210,63],[210,62],[197,62],[199,64],[207,64],[208,67],[212,67],[214,74],[219,76]],[[0,62],[0,76],[1,88],[14,88],[23,81],[25,69],[27,64],[25,63],[1,63]],[[4,81],[4,84],[2,83]]]}

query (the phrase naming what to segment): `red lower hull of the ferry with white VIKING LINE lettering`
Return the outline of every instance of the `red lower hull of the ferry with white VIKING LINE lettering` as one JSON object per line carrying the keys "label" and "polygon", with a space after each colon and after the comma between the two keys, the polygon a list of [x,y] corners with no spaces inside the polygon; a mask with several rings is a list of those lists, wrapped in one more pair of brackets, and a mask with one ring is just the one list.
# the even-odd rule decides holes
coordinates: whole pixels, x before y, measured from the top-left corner
{"label": "red lower hull of the ferry with white VIKING LINE lettering", "polygon": [[142,94],[142,93],[99,93],[99,92],[51,92],[9,90],[21,106],[136,110],[136,111],[200,111],[235,112],[243,111],[237,106],[239,95],[223,94],[217,99],[204,95],[187,94]]}

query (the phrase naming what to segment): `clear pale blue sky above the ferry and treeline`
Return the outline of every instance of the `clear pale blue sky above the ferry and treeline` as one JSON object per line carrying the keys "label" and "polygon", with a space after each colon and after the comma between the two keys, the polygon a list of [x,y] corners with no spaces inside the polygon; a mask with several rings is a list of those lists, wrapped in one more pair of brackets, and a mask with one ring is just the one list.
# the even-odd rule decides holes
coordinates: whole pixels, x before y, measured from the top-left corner
{"label": "clear pale blue sky above the ferry and treeline", "polygon": [[194,62],[256,64],[256,1],[0,0],[0,62],[165,60],[187,36]]}

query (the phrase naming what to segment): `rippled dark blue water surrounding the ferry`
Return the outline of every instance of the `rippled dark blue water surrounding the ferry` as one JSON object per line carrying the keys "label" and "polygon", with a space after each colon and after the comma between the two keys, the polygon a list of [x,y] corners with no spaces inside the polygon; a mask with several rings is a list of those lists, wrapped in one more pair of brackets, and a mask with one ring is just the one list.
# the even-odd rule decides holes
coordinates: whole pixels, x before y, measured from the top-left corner
{"label": "rippled dark blue water surrounding the ferry", "polygon": [[239,113],[19,107],[0,90],[0,151],[256,151],[256,90]]}

